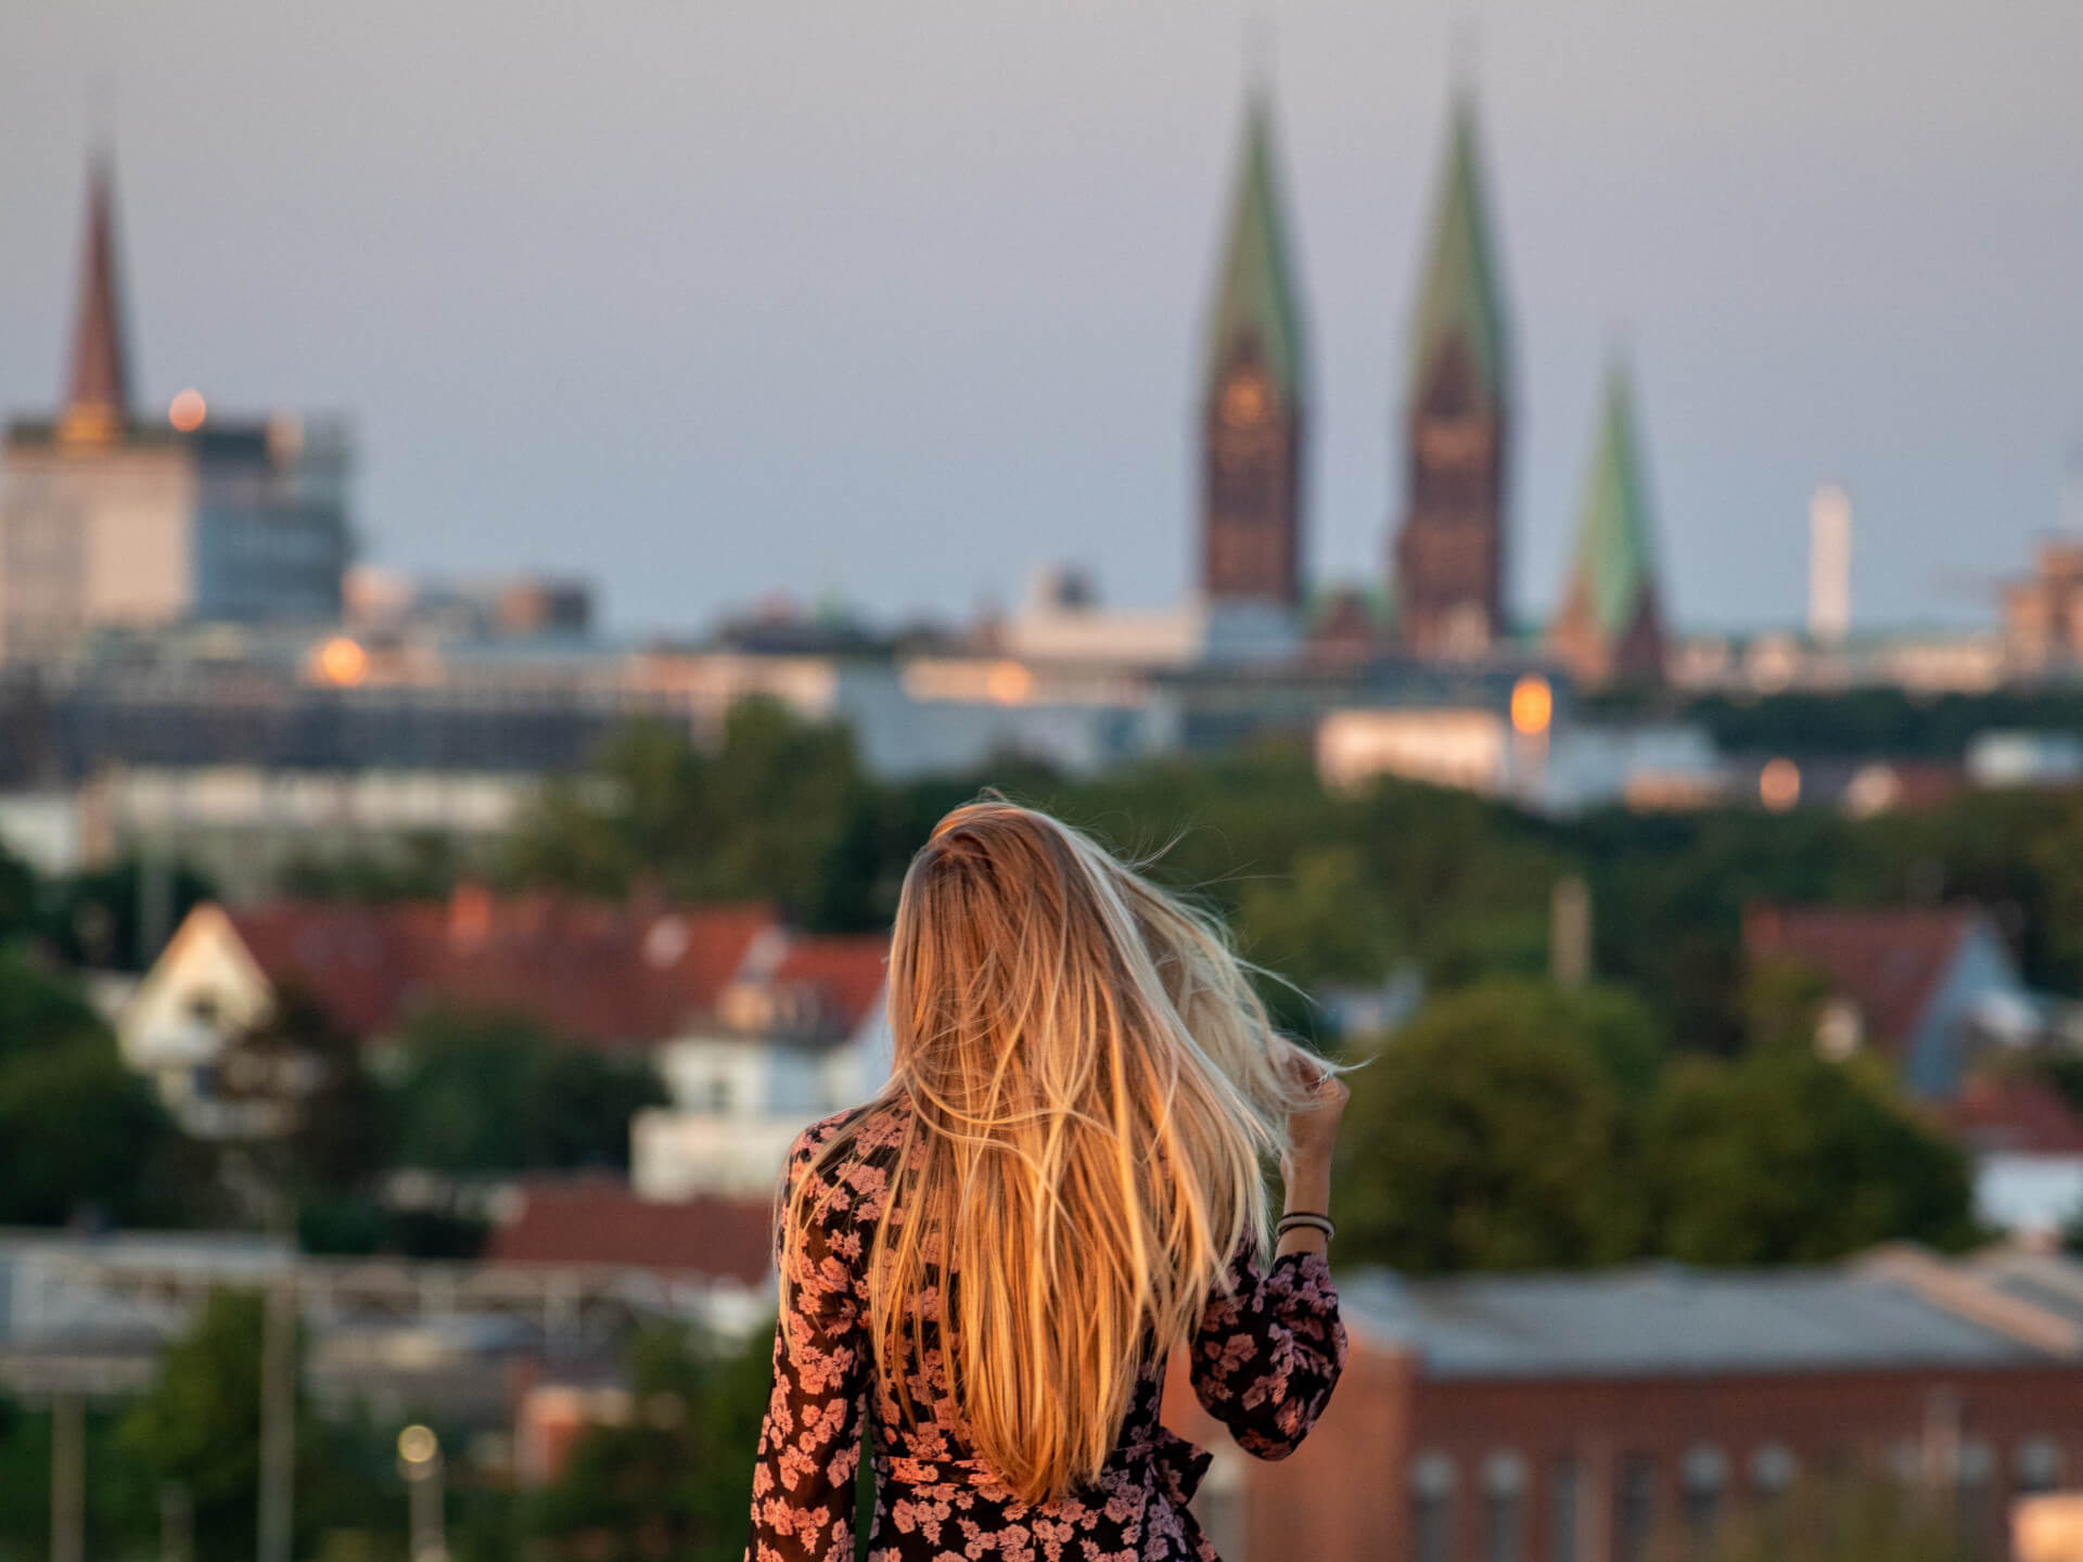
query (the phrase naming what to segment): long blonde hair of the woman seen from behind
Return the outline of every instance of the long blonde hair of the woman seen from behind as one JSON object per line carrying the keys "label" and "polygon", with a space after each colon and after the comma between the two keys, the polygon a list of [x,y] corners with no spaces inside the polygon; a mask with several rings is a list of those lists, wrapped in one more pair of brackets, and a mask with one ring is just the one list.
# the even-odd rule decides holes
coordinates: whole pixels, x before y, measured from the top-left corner
{"label": "long blonde hair of the woman seen from behind", "polygon": [[1302,1093],[1287,1043],[1219,921],[998,800],[948,814],[904,875],[889,1025],[879,1100],[906,1141],[867,1270],[881,1383],[910,1414],[933,1314],[977,1454],[1014,1497],[1058,1497],[1098,1475],[1148,1350],[1264,1241],[1264,1162]]}

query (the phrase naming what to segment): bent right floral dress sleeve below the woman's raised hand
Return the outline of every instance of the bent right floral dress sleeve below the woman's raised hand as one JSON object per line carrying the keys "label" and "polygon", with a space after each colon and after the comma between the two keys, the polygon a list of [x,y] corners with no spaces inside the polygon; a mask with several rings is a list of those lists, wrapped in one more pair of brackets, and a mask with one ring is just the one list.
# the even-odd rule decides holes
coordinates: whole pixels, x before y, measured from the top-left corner
{"label": "bent right floral dress sleeve below the woman's raised hand", "polygon": [[1260,1266],[1250,1241],[1229,1260],[1229,1289],[1208,1300],[1194,1335],[1191,1377],[1202,1408],[1246,1454],[1294,1454],[1331,1402],[1346,1368],[1346,1325],[1323,1254]]}

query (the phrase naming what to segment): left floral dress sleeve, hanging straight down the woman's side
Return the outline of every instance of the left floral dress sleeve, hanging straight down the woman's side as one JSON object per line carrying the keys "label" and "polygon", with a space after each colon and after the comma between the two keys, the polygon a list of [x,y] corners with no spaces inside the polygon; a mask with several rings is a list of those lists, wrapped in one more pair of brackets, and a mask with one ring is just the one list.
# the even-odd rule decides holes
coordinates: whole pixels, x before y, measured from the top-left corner
{"label": "left floral dress sleeve, hanging straight down the woman's side", "polygon": [[[810,1150],[789,1154],[787,1193]],[[783,1214],[783,1220],[787,1214]],[[812,1208],[789,1266],[789,1298],[775,1322],[775,1383],[752,1468],[752,1539],[746,1562],[852,1562],[854,1477],[867,1385],[867,1327],[854,1266],[860,1239],[831,1202]]]}

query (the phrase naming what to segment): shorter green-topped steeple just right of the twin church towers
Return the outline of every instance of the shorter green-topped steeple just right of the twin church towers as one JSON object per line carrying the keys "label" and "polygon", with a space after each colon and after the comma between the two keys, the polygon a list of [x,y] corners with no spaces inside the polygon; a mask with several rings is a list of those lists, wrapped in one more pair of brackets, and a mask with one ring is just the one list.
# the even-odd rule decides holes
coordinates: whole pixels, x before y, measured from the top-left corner
{"label": "shorter green-topped steeple just right of the twin church towers", "polygon": [[1662,671],[1654,533],[1633,392],[1627,369],[1614,362],[1552,631],[1556,654],[1585,683],[1641,681]]}

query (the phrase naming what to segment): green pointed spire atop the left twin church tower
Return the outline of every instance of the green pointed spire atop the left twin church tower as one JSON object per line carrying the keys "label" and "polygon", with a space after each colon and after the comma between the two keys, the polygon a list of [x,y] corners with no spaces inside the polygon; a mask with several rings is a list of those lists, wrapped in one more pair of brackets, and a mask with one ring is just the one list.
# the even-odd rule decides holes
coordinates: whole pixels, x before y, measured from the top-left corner
{"label": "green pointed spire atop the left twin church tower", "polygon": [[1264,87],[1252,87],[1244,115],[1237,194],[1214,306],[1208,312],[1210,396],[1244,350],[1258,358],[1275,392],[1294,408],[1302,400],[1306,377],[1302,306],[1287,256],[1285,200],[1273,154],[1273,106]]}

